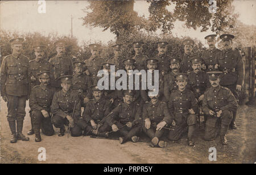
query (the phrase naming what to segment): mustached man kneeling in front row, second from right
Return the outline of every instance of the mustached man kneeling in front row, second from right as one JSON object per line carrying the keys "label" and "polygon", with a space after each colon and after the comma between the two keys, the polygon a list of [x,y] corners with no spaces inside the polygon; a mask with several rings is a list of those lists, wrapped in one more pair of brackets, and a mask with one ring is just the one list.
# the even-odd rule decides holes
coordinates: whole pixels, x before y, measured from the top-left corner
{"label": "mustached man kneeling in front row, second from right", "polygon": [[174,116],[174,122],[172,122],[172,128],[168,135],[169,140],[180,139],[183,132],[188,127],[188,145],[195,145],[193,135],[196,130],[197,117],[195,111],[197,111],[197,101],[195,95],[189,90],[187,86],[188,76],[185,73],[179,73],[176,75],[177,85],[179,89],[173,91],[169,99],[168,108],[171,116]]}

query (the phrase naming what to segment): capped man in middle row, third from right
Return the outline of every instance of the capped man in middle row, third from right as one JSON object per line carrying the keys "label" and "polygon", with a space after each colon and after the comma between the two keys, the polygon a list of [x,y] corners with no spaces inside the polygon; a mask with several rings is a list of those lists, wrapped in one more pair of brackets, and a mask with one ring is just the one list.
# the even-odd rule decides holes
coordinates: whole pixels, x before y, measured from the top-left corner
{"label": "capped man in middle row, third from right", "polygon": [[[155,84],[155,70],[157,70],[157,66],[158,66],[158,60],[157,59],[147,59],[146,61],[146,66],[148,69],[148,73],[152,74],[152,77],[150,79],[147,78],[147,81],[153,85]],[[163,100],[163,88],[164,88],[164,84],[163,84],[163,76],[162,74],[159,73],[159,77],[158,77],[158,85],[159,85],[159,99],[162,101]],[[142,82],[143,84],[143,82]],[[150,97],[148,97],[147,95],[148,93],[148,88],[147,90],[141,90],[141,97],[144,103],[148,103],[150,101]]]}

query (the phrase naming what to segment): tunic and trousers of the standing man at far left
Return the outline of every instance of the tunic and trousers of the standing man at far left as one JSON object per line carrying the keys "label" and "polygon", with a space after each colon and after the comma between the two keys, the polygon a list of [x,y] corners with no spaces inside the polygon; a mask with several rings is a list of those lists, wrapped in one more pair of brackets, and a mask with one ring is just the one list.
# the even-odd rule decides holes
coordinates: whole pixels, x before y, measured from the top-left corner
{"label": "tunic and trousers of the standing man at far left", "polygon": [[9,55],[1,65],[1,95],[7,96],[8,114],[11,121],[23,121],[28,98],[28,57]]}

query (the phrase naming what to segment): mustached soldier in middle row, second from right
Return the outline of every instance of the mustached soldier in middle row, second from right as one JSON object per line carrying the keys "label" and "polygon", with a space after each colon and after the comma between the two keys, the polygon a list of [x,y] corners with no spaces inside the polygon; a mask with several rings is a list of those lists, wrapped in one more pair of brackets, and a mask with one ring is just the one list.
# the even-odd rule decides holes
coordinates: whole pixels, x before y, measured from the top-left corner
{"label": "mustached soldier in middle row, second from right", "polygon": [[180,73],[180,59],[169,59],[171,72],[164,75],[164,100],[167,102],[170,98],[172,91],[177,90],[176,74]]}

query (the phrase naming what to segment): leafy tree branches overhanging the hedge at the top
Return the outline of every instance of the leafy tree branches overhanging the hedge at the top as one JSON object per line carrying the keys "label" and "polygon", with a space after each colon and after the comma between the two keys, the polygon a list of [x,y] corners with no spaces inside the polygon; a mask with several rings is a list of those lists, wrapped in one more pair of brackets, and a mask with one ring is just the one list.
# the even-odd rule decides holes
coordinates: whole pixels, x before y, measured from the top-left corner
{"label": "leafy tree branches overhanging the hedge at the top", "polygon": [[[174,22],[181,20],[188,28],[201,27],[201,31],[210,29],[221,32],[226,28],[234,27],[237,14],[234,14],[233,0],[216,0],[217,12],[210,13],[209,1],[155,1],[150,3],[148,19],[138,16],[133,10],[134,0],[131,1],[90,1],[84,9],[86,16],[82,18],[83,25],[103,27],[104,31],[110,29],[117,36],[130,35],[133,30],[156,31],[171,33]],[[172,7],[174,10],[168,10]]]}

